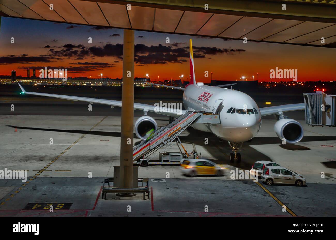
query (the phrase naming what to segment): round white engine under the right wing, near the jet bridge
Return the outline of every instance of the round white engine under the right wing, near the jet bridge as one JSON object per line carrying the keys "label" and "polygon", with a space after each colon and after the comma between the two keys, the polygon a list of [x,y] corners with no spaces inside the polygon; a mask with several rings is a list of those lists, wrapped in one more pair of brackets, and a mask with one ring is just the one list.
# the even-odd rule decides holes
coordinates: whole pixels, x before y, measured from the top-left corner
{"label": "round white engine under the right wing, near the jet bridge", "polygon": [[280,139],[286,139],[286,143],[298,143],[303,137],[303,127],[294,119],[280,119],[275,123],[274,130]]}

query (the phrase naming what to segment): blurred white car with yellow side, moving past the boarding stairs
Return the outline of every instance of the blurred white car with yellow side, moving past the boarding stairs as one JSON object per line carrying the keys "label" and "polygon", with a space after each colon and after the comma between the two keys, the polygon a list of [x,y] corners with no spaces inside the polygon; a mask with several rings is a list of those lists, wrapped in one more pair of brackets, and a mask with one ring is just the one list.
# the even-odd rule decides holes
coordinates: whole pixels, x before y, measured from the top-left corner
{"label": "blurred white car with yellow side, moving past the boarding stairs", "polygon": [[197,175],[222,176],[225,167],[211,162],[207,159],[186,159],[181,164],[181,172],[190,177]]}

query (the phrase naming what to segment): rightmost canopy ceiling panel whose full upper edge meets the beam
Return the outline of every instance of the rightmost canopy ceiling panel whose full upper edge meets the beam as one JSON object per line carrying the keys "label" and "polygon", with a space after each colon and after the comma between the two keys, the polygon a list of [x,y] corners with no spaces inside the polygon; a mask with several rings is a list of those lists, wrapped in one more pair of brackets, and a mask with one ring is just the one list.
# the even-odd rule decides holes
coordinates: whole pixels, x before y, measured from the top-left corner
{"label": "rightmost canopy ceiling panel whose full upper edge meets the beam", "polygon": [[306,34],[327,26],[333,25],[332,23],[316,23],[316,22],[303,22],[294,27],[286,29],[280,33],[269,36],[263,40],[266,41],[275,41],[275,42],[285,42],[291,38],[295,38],[297,36],[301,36],[302,34]]}

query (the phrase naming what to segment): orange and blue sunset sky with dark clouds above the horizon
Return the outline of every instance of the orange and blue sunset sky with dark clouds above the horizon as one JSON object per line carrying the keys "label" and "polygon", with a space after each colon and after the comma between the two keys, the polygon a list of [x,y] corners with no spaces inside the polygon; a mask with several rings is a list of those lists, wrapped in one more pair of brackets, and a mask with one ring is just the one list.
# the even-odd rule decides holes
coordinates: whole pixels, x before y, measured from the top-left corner
{"label": "orange and blue sunset sky with dark clouds above the horizon", "polygon": [[[11,37],[15,43],[11,44]],[[92,44],[88,38],[92,37]],[[166,44],[166,37],[170,44]],[[298,81],[336,79],[335,48],[223,40],[135,31],[135,77],[149,74],[152,80],[189,77],[192,38],[198,82],[213,79],[269,80],[270,69],[297,69]],[[0,75],[27,75],[27,68],[68,69],[68,77],[122,77],[123,30],[29,19],[2,17]],[[32,71],[31,71],[32,74]],[[160,77],[158,77],[160,76]]]}

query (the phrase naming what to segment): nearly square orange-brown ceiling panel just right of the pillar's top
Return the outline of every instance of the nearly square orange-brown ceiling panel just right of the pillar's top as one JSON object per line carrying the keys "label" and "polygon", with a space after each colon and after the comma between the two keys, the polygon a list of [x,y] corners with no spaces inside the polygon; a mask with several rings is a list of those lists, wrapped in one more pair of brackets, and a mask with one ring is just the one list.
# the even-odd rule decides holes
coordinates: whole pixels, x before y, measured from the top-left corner
{"label": "nearly square orange-brown ceiling panel just right of the pillar's top", "polygon": [[155,8],[150,7],[132,6],[131,10],[128,10],[132,28],[152,30],[154,23],[154,10]]}

